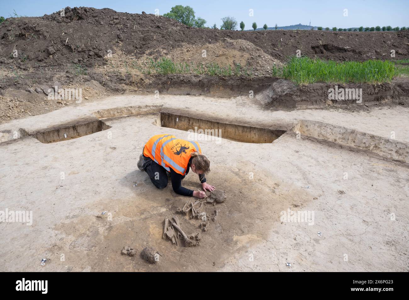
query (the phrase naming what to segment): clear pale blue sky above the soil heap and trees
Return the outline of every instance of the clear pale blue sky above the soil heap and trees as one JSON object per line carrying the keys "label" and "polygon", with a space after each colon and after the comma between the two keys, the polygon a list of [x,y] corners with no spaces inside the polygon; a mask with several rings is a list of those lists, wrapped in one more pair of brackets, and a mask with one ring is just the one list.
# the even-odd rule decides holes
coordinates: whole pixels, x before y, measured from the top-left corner
{"label": "clear pale blue sky above the soil heap and trees", "polygon": [[[159,9],[160,15],[167,13],[175,5],[189,5],[196,12],[196,17],[207,20],[206,26],[214,23],[220,27],[221,18],[232,16],[238,22],[243,21],[245,29],[251,29],[252,22],[258,27],[264,23],[268,27],[288,26],[293,24],[322,27],[375,27],[391,25],[392,27],[409,27],[409,0],[343,0],[343,1],[315,1],[315,0],[82,0],[82,1],[33,1],[33,0],[0,0],[0,16],[8,18],[13,9],[22,16],[43,16],[60,10],[63,7],[87,6],[95,8],[110,8],[115,11],[128,13],[155,13]],[[249,9],[254,10],[254,16],[249,16]],[[344,17],[344,9],[348,9],[348,16]]]}

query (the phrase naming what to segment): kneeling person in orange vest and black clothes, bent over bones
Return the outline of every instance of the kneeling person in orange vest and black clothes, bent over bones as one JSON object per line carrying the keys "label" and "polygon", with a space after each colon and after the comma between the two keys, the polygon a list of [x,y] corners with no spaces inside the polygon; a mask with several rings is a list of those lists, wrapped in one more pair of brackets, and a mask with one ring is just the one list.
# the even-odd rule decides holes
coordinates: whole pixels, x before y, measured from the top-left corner
{"label": "kneeling person in orange vest and black clothes, bent over bones", "polygon": [[[182,187],[182,179],[189,173],[189,167],[199,175],[203,191]],[[206,182],[205,174],[210,172],[210,162],[202,155],[199,143],[178,139],[170,134],[159,134],[148,140],[139,156],[138,168],[148,173],[158,189],[168,185],[170,176],[173,191],[183,196],[202,199],[206,197],[204,191],[215,189]]]}

